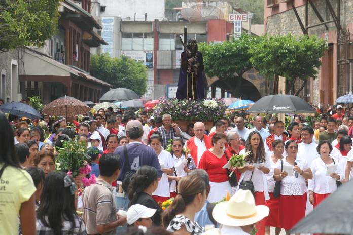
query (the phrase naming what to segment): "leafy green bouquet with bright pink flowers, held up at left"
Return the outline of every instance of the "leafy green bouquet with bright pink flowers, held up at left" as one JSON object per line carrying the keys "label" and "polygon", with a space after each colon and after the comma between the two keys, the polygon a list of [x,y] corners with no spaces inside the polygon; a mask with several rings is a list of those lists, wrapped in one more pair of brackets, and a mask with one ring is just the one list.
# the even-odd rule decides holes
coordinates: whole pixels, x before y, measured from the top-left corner
{"label": "leafy green bouquet with bright pink flowers, held up at left", "polygon": [[[57,148],[59,154],[56,159],[58,165],[57,169],[67,172],[67,175],[73,178],[79,175],[89,175],[92,171],[91,166],[88,164],[90,156],[87,154],[87,149],[84,142],[75,140],[68,140],[63,142],[62,148]],[[87,187],[96,183],[94,174],[89,178],[83,177],[81,179],[83,186]]]}

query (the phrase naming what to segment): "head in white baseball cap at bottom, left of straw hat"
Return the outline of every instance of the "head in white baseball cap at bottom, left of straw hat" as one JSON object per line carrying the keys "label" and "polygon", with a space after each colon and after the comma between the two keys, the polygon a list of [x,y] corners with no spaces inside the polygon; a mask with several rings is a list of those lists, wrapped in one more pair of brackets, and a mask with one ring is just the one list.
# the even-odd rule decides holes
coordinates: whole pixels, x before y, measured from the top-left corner
{"label": "head in white baseball cap at bottom, left of straw hat", "polygon": [[145,207],[141,204],[134,204],[127,210],[127,225],[135,227],[144,226],[151,227],[151,217],[156,213],[156,209]]}

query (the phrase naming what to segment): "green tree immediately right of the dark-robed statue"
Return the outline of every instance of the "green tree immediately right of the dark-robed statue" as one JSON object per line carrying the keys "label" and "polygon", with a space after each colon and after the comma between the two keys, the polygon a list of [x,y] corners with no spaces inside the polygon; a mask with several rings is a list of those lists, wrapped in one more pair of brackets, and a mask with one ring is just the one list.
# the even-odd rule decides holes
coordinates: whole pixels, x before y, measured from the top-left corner
{"label": "green tree immediately right of the dark-robed statue", "polygon": [[[250,46],[256,43],[257,37],[242,34],[238,40],[225,41],[220,44],[199,44],[203,54],[205,73],[208,76],[220,78],[217,85],[225,85],[238,97],[241,87],[241,77],[253,65],[250,62]],[[224,83],[224,84],[219,84]]]}

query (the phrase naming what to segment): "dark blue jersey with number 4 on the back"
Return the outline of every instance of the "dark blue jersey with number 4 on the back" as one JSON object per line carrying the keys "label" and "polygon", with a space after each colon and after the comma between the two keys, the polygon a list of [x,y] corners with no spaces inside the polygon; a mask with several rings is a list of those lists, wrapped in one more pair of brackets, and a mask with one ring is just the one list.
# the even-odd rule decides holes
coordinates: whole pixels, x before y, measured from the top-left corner
{"label": "dark blue jersey with number 4 on the back", "polygon": [[[158,161],[158,156],[156,151],[140,142],[131,142],[126,145],[127,155],[129,158],[129,164],[132,171],[137,171],[140,166],[148,165],[155,167],[158,171],[158,178],[162,177],[161,165]],[[115,149],[114,153],[119,154],[120,156],[120,175],[118,177],[119,181],[122,181],[125,177],[125,156],[124,156],[124,146],[119,146]]]}

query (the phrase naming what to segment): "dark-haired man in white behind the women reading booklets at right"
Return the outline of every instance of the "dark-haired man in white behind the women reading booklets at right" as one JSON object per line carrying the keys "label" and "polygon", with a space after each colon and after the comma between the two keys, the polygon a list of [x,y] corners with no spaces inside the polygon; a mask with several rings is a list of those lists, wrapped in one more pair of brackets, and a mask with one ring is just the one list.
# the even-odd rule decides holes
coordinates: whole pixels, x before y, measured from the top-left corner
{"label": "dark-haired man in white behind the women reading booklets at right", "polygon": [[[320,157],[316,150],[317,144],[312,141],[313,136],[314,129],[312,129],[310,126],[304,126],[300,131],[302,142],[298,144],[297,158],[305,159],[309,166],[311,166],[311,163],[314,161],[314,159]],[[312,209],[312,204],[309,201],[309,193],[307,193],[305,215],[310,213]]]}

